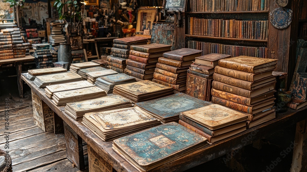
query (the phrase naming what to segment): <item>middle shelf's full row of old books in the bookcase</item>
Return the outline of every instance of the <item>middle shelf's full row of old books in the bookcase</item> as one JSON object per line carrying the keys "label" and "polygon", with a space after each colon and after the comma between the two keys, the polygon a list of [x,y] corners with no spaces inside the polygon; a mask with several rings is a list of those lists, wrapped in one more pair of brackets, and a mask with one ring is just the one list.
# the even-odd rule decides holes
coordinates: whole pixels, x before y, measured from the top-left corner
{"label": "middle shelf's full row of old books in the bookcase", "polygon": [[188,18],[188,33],[212,37],[266,40],[268,21]]}

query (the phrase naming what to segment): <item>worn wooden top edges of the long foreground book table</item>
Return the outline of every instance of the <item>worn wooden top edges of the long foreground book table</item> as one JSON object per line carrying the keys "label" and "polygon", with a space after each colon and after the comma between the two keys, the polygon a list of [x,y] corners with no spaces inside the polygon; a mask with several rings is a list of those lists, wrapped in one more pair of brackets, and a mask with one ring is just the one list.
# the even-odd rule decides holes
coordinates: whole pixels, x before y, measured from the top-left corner
{"label": "worn wooden top edges of the long foreground book table", "polygon": [[[31,89],[41,97],[41,99],[64,120],[67,125],[76,132],[78,137],[82,138],[90,147],[96,151],[107,163],[109,163],[116,171],[138,171],[118,154],[112,150],[112,141],[103,142],[81,121],[76,121],[64,112],[64,106],[56,106],[52,103],[51,99],[45,96],[44,89],[37,88],[33,81],[27,80],[25,76],[21,78],[31,87]],[[238,135],[224,139],[220,142],[213,143],[200,148],[182,158],[174,160],[173,162],[166,163],[153,171],[184,171],[194,166],[208,162],[212,159],[218,158],[243,146],[251,144],[252,142],[270,135],[274,130],[278,130],[299,121],[306,119],[307,107],[295,111],[289,109],[286,113],[277,114],[277,119],[271,120],[262,125],[248,129]],[[80,153],[81,154],[81,153]],[[69,156],[69,155],[68,155]]]}

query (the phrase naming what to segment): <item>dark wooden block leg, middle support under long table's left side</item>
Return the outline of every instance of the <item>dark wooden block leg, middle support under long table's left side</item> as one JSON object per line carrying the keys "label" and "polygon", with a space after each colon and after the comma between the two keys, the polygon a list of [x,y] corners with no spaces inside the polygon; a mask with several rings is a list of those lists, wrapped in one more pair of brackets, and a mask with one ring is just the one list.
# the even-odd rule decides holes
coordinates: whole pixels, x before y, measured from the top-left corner
{"label": "dark wooden block leg, middle support under long table's left side", "polygon": [[67,123],[64,123],[66,156],[79,170],[85,168],[82,139]]}

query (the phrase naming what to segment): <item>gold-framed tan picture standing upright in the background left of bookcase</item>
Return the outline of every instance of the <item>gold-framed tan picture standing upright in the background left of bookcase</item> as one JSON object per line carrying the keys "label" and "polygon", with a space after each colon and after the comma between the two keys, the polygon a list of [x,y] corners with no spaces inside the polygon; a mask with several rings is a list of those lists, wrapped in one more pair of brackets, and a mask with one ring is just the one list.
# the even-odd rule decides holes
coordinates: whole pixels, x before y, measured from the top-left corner
{"label": "gold-framed tan picture standing upright in the background left of bookcase", "polygon": [[153,22],[156,18],[156,8],[138,9],[138,19],[136,33],[141,35],[151,35]]}

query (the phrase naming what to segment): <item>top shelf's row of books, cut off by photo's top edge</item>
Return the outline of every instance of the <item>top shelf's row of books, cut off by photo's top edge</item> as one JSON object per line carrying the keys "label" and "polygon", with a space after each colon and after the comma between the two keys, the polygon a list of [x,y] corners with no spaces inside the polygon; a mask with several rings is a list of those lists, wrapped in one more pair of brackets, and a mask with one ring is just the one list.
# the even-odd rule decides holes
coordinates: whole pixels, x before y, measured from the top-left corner
{"label": "top shelf's row of books, cut off by photo's top edge", "polygon": [[268,0],[191,0],[190,12],[267,10]]}

